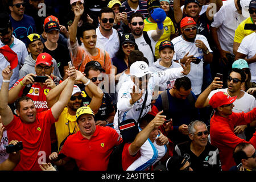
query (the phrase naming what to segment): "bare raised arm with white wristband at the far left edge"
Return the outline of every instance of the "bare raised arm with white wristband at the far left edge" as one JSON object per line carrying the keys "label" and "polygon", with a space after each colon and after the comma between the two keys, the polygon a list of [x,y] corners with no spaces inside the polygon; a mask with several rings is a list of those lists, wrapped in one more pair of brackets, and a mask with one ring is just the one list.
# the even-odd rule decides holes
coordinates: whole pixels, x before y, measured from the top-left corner
{"label": "bare raised arm with white wristband at the far left edge", "polygon": [[3,83],[0,91],[0,115],[2,117],[3,125],[9,125],[11,121],[13,121],[13,111],[8,105],[8,91],[11,75],[13,75],[13,70],[10,70],[10,65],[3,69]]}

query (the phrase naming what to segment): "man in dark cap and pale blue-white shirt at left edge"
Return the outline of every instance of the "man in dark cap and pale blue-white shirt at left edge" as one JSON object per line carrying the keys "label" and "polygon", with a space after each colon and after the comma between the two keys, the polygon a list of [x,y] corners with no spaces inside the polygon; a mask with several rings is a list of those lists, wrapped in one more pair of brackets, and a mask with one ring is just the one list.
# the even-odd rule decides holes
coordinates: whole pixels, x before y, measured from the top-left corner
{"label": "man in dark cap and pale blue-white shirt at left edge", "polygon": [[[24,64],[24,60],[27,57],[28,53],[26,50],[25,44],[15,38],[13,36],[13,27],[11,25],[11,21],[9,15],[6,13],[0,14],[0,47],[9,46],[18,56],[18,65],[16,68],[13,69],[13,76],[10,80],[9,89],[14,85],[14,83],[18,80],[19,77],[19,69]],[[0,71],[10,65],[10,63],[5,59],[5,56],[0,54]],[[3,77],[0,75],[0,86],[2,85]]]}

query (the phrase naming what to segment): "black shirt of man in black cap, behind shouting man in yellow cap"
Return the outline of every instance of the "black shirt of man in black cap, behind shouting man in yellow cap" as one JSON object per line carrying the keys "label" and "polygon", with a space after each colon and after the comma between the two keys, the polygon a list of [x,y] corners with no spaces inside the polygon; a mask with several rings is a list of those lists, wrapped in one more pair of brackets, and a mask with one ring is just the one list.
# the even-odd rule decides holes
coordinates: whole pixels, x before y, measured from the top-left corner
{"label": "black shirt of man in black cap, behind shouting man in yellow cap", "polygon": [[[85,89],[81,89],[82,91],[82,106],[88,106],[90,102],[92,101],[92,98],[88,96],[88,94],[85,92]],[[109,117],[109,114],[114,111],[112,98],[108,93],[104,92],[104,96],[102,98],[102,104],[100,106],[100,109],[98,109],[98,113],[95,114],[94,120],[106,120]]]}

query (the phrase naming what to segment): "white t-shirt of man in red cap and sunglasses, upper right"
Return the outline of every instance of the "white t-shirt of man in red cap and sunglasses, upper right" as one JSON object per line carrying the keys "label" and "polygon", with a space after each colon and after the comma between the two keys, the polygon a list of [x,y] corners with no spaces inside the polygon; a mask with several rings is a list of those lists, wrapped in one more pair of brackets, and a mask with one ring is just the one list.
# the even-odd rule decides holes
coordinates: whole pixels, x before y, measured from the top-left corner
{"label": "white t-shirt of man in red cap and sunglasses, upper right", "polygon": [[[204,42],[205,46],[209,49],[209,52],[212,52],[210,46],[208,44],[207,38],[204,35],[196,35],[195,40],[201,40]],[[174,39],[172,39],[172,43],[174,44],[174,60],[183,59],[185,54],[189,52],[189,55],[193,55],[198,59],[201,59],[199,64],[191,63],[191,70],[187,77],[191,80],[192,92],[196,95],[201,93],[201,87],[203,85],[203,75],[204,75],[204,53],[203,50],[196,47],[195,42],[187,42],[183,39],[183,36],[180,35]]]}

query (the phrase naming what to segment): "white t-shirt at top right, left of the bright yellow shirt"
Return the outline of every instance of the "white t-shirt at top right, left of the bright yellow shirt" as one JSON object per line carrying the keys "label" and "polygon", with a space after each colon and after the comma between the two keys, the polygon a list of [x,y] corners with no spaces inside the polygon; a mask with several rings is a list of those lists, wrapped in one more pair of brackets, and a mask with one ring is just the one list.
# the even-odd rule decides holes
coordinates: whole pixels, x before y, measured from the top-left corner
{"label": "white t-shirt at top right, left of the bright yellow shirt", "polygon": [[218,41],[223,50],[233,53],[234,34],[246,18],[237,12],[234,1],[228,1],[214,14],[211,27],[218,28]]}

